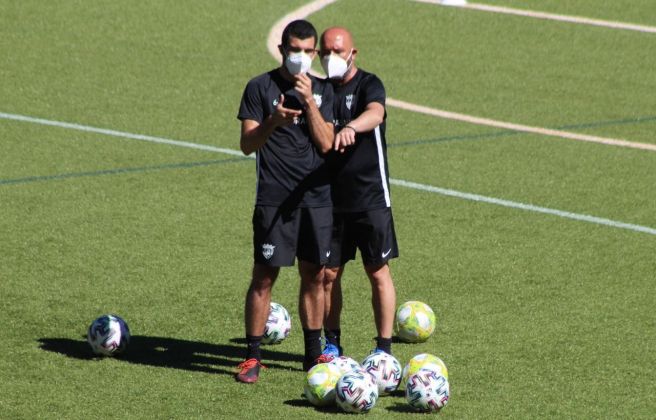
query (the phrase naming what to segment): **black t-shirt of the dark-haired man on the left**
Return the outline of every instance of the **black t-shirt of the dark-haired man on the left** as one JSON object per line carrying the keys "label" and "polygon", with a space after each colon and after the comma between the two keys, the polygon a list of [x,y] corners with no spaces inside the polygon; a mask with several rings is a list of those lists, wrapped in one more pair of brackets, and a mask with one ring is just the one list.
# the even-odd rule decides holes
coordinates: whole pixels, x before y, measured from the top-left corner
{"label": "black t-shirt of the dark-haired man on the left", "polygon": [[[333,121],[333,88],[330,83],[310,76],[314,100],[325,121]],[[294,83],[285,80],[279,69],[255,77],[246,85],[237,118],[262,122],[272,115],[280,94],[284,106],[302,109]],[[324,156],[310,138],[305,111],[298,123],[277,127],[256,152],[256,205],[328,207],[330,174]]]}

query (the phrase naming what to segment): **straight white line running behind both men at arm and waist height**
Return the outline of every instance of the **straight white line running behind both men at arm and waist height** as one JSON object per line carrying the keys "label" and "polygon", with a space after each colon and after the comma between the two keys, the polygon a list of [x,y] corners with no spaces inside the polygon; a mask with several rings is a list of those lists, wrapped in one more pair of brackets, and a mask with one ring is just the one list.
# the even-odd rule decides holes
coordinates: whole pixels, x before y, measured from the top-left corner
{"label": "straight white line running behind both men at arm and waist height", "polygon": [[[241,153],[240,151],[233,150],[233,149],[226,149],[226,148],[221,148],[221,147],[208,146],[208,145],[204,145],[204,144],[192,143],[192,142],[187,142],[187,141],[171,140],[171,139],[162,138],[162,137],[146,136],[146,135],[143,135],[143,134],[126,133],[126,132],[123,132],[123,131],[116,131],[116,130],[109,130],[109,129],[105,129],[105,128],[91,127],[91,126],[88,126],[88,125],[73,124],[73,123],[67,123],[67,122],[62,122],[62,121],[46,120],[46,119],[43,119],[43,118],[34,118],[34,117],[26,116],[26,115],[8,114],[8,113],[0,112],[0,119],[21,121],[21,122],[27,122],[27,123],[32,123],[32,124],[39,124],[39,125],[46,125],[46,126],[51,126],[51,127],[65,128],[65,129],[70,129],[70,130],[84,131],[84,132],[89,132],[89,133],[97,133],[97,134],[103,134],[103,135],[113,136],[113,137],[121,137],[121,138],[132,139],[132,140],[148,141],[148,142],[152,142],[152,143],[166,144],[166,145],[171,145],[171,146],[176,146],[176,147],[186,147],[186,148],[190,148],[190,149],[203,150],[203,151],[214,152],[214,153],[223,153],[223,154],[228,154],[228,155],[232,155],[232,156],[242,156],[242,157],[244,156],[243,153]],[[503,207],[510,207],[510,208],[514,208],[514,209],[526,210],[526,211],[531,211],[531,212],[536,212],[536,213],[549,214],[549,215],[553,215],[553,216],[563,217],[563,218],[566,218],[566,219],[574,219],[574,220],[578,220],[578,221],[582,221],[582,222],[588,222],[588,223],[593,223],[593,224],[598,224],[598,225],[610,226],[610,227],[614,227],[614,228],[618,228],[618,229],[625,229],[625,230],[631,230],[631,231],[634,231],[634,232],[643,232],[643,233],[648,233],[648,234],[651,234],[651,235],[656,235],[656,229],[654,229],[654,228],[650,228],[650,227],[647,227],[647,226],[641,226],[641,225],[635,225],[635,224],[631,224],[631,223],[619,222],[619,221],[610,220],[610,219],[604,219],[604,218],[601,218],[601,217],[589,216],[589,215],[585,215],[585,214],[571,213],[571,212],[568,212],[568,211],[550,209],[550,208],[546,208],[546,207],[538,207],[538,206],[534,206],[532,204],[525,204],[525,203],[520,203],[520,202],[515,202],[515,201],[503,200],[503,199],[500,199],[500,198],[486,197],[486,196],[477,195],[477,194],[471,194],[471,193],[465,193],[465,192],[460,192],[460,191],[455,191],[455,190],[449,190],[449,189],[445,189],[445,188],[434,187],[432,185],[418,184],[416,182],[404,181],[402,179],[390,179],[390,183],[393,184],[393,185],[398,185],[398,186],[405,187],[405,188],[411,188],[411,189],[415,189],[415,190],[419,190],[419,191],[425,191],[425,192],[445,195],[445,196],[449,196],[449,197],[456,197],[456,198],[460,198],[460,199],[464,199],[464,200],[495,204],[495,205],[499,205],[499,206],[503,206]]]}

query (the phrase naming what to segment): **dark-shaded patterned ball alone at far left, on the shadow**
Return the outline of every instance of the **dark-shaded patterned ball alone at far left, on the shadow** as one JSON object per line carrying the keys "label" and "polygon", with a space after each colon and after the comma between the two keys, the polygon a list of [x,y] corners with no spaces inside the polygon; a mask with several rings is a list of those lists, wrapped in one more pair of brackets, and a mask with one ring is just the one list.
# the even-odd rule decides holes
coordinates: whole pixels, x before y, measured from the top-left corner
{"label": "dark-shaded patterned ball alone at far left, on the shadow", "polygon": [[125,351],[130,343],[130,328],[117,315],[103,315],[89,326],[87,342],[95,354],[113,356]]}

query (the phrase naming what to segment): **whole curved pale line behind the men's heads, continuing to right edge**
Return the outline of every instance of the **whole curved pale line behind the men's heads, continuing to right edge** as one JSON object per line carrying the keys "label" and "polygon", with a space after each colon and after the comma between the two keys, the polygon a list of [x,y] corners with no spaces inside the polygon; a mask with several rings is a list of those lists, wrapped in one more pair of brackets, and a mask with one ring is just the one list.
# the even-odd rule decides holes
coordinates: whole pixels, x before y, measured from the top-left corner
{"label": "whole curved pale line behind the men's heads, continuing to right edge", "polygon": [[[285,26],[292,20],[306,19],[312,13],[318,12],[319,10],[323,9],[324,7],[332,3],[335,3],[336,1],[337,0],[316,0],[292,11],[291,13],[288,13],[282,19],[278,20],[269,31],[269,36],[267,37],[267,49],[269,50],[269,53],[280,63],[282,57],[280,55],[280,51],[278,51],[278,44],[280,43],[282,37],[282,31],[285,28]],[[414,1],[443,4],[440,0],[414,0]],[[470,5],[458,6],[458,7],[469,7],[469,6]],[[325,76],[316,71],[312,71],[312,73],[319,77]],[[426,106],[417,105],[393,98],[387,98],[386,103],[389,106],[404,109],[406,111],[419,112],[426,115],[432,115],[434,117],[455,120],[455,121],[463,121],[470,124],[503,128],[506,130],[519,131],[525,133],[541,134],[545,136],[559,137],[568,140],[577,140],[577,141],[585,141],[585,142],[604,144],[610,146],[619,146],[619,147],[628,147],[628,148],[640,149],[640,150],[656,151],[656,144],[638,143],[638,142],[633,142],[624,139],[591,136],[587,134],[578,134],[569,131],[554,130],[554,129],[542,128],[542,127],[531,127],[522,124],[514,124],[505,121],[492,120],[489,118],[476,117],[473,115],[459,114],[456,112],[445,111],[438,108],[429,108]]]}

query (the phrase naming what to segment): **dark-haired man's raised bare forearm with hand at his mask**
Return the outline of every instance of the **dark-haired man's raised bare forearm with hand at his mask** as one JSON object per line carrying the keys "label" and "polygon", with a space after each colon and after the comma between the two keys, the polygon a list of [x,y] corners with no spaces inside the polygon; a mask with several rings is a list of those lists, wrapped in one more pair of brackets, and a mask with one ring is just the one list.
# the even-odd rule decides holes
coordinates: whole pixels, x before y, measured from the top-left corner
{"label": "dark-haired man's raised bare forearm with hand at his mask", "polygon": [[[333,147],[333,141],[335,139],[333,124],[332,122],[325,121],[321,110],[314,100],[312,79],[307,74],[297,74],[294,78],[296,79],[295,89],[304,101],[303,109],[305,110],[305,119],[310,130],[310,138],[321,153],[328,153]],[[332,100],[327,105],[332,108]]]}

